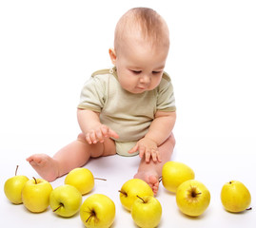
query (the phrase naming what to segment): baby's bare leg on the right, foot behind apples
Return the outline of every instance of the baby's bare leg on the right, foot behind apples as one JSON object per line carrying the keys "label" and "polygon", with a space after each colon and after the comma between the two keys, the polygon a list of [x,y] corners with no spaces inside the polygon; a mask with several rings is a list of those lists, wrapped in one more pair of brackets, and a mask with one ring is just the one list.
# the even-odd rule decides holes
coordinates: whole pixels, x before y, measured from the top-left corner
{"label": "baby's bare leg on the right, foot behind apples", "polygon": [[148,182],[155,195],[158,191],[159,178],[162,176],[163,165],[170,160],[174,145],[175,139],[173,134],[171,134],[167,141],[160,145],[158,148],[161,154],[162,162],[154,162],[150,160],[149,163],[147,163],[145,158],[143,158],[140,163],[138,172],[134,176],[134,178],[142,179]]}

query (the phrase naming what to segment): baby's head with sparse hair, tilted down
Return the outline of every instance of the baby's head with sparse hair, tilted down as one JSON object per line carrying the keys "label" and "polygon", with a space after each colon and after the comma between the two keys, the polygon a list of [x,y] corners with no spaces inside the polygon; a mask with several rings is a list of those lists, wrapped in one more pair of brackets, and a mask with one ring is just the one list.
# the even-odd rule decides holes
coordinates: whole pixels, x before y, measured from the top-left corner
{"label": "baby's head with sparse hair, tilted down", "polygon": [[122,87],[141,93],[159,85],[168,48],[167,24],[155,10],[128,10],[116,25],[114,49],[109,49]]}

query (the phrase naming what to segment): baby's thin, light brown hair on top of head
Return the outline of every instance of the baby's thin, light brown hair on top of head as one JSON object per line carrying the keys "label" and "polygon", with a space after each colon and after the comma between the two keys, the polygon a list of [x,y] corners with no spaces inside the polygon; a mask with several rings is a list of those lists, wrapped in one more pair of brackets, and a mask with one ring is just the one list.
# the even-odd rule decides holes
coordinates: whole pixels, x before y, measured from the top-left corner
{"label": "baby's thin, light brown hair on top of head", "polygon": [[128,10],[118,21],[115,28],[114,48],[117,51],[122,40],[132,32],[140,32],[142,37],[152,46],[163,44],[169,46],[168,28],[165,20],[149,8]]}

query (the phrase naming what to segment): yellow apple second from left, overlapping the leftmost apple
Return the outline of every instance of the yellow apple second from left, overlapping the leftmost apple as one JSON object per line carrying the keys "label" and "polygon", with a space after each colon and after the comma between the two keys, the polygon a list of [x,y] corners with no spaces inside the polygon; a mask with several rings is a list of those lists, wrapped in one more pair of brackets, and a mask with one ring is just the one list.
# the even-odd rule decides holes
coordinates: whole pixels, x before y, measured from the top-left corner
{"label": "yellow apple second from left, overlapping the leftmost apple", "polygon": [[21,193],[23,203],[30,212],[43,212],[49,206],[49,194],[51,191],[52,187],[47,180],[28,180]]}

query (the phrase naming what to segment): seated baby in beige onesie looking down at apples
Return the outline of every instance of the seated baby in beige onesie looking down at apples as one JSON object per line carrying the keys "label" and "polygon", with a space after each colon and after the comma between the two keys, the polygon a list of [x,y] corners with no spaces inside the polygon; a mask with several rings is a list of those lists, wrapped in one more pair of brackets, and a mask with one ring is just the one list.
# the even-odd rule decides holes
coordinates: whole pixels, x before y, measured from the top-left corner
{"label": "seated baby in beige onesie looking down at apples", "polygon": [[81,93],[77,118],[82,133],[52,158],[35,154],[27,161],[45,180],[55,180],[89,158],[139,154],[134,178],[145,180],[154,194],[175,145],[176,120],[170,78],[164,72],[168,28],[154,10],[128,10],[115,28],[113,67],[92,74]]}

